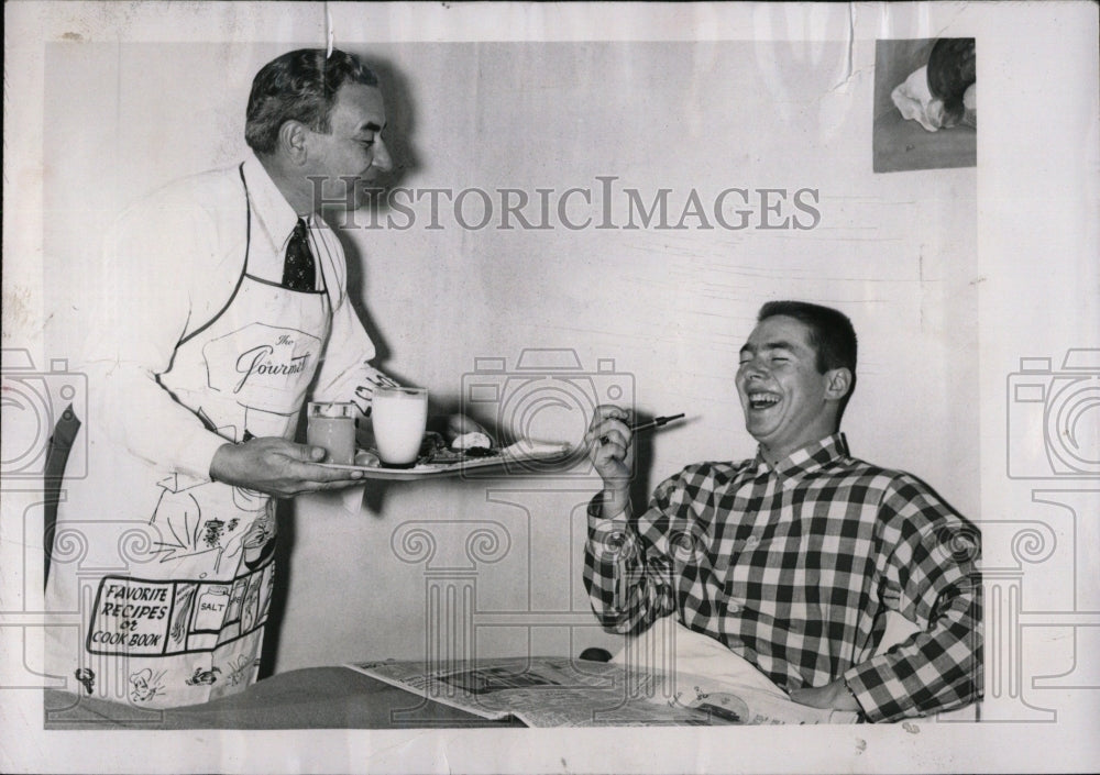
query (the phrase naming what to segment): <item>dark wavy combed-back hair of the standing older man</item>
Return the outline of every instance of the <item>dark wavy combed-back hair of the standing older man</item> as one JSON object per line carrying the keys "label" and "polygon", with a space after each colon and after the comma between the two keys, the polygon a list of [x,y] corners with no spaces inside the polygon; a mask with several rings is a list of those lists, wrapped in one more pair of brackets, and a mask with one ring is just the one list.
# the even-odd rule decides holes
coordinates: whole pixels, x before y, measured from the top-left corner
{"label": "dark wavy combed-back hair of the standing older man", "polygon": [[299,48],[271,60],[252,79],[244,140],[257,155],[270,155],[287,121],[328,132],[337,91],[349,82],[377,86],[378,77],[338,49],[326,57],[323,48]]}

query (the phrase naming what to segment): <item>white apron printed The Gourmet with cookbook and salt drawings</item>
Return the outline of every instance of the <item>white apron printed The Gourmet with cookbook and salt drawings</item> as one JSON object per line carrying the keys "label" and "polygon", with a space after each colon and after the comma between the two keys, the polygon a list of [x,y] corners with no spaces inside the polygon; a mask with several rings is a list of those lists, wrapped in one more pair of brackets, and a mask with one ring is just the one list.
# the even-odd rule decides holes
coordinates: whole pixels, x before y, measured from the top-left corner
{"label": "white apron printed The Gourmet with cookbook and salt drawings", "polygon": [[[227,441],[290,439],[331,307],[323,290],[249,274],[243,167],[241,180],[249,229],[237,289],[180,342],[160,383]],[[86,696],[150,708],[243,690],[258,668],[274,585],[274,499],[89,442],[99,464],[66,481],[46,590],[50,610],[78,615],[78,624],[47,632],[48,669]],[[65,563],[76,533],[80,562]]]}

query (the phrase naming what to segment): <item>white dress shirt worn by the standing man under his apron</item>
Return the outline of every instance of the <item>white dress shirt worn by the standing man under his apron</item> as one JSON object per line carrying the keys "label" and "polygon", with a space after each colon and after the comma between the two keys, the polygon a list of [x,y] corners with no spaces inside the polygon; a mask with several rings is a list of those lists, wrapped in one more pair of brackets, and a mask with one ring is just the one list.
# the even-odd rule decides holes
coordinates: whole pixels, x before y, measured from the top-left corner
{"label": "white dress shirt worn by the standing man under his apron", "polygon": [[[286,243],[298,215],[254,156],[241,167],[169,184],[123,212],[107,236],[99,283],[88,289],[92,320],[88,374],[89,440],[189,476],[209,478],[227,440],[206,429],[164,389],[176,345],[216,318],[244,270],[279,284]],[[332,330],[314,390],[316,400],[365,408],[374,385],[389,381],[369,361],[374,345],[346,294],[343,250],[317,217],[307,220],[318,289],[332,307]],[[359,390],[356,390],[359,388]],[[100,454],[106,454],[106,450]]]}

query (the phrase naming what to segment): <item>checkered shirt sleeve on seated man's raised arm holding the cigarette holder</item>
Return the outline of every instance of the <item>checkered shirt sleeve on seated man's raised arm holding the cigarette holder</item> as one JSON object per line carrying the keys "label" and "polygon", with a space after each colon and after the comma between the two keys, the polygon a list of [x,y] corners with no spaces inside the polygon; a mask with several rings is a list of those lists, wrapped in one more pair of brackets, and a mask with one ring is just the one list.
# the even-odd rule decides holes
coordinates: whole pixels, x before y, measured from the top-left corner
{"label": "checkered shirt sleeve on seated man's raised arm holding the cigarette holder", "polygon": [[[646,517],[668,514],[675,500],[676,477],[653,494]],[[675,610],[672,563],[639,534],[629,506],[610,519],[601,514],[602,495],[588,505],[588,540],[584,547],[584,586],[592,610],[609,632],[635,634]],[[660,521],[658,518],[657,521]]]}

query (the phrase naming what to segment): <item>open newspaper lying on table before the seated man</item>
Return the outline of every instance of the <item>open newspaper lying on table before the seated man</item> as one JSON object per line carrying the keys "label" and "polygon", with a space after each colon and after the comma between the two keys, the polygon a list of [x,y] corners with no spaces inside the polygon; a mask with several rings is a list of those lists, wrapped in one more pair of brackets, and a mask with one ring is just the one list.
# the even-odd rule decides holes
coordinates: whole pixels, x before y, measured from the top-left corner
{"label": "open newspaper lying on table before the seated man", "polygon": [[854,723],[857,715],[798,705],[748,685],[680,671],[564,656],[477,660],[430,668],[424,662],[360,662],[352,669],[486,719],[529,727]]}

